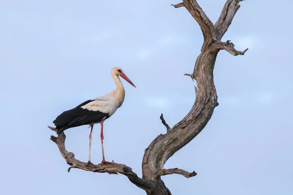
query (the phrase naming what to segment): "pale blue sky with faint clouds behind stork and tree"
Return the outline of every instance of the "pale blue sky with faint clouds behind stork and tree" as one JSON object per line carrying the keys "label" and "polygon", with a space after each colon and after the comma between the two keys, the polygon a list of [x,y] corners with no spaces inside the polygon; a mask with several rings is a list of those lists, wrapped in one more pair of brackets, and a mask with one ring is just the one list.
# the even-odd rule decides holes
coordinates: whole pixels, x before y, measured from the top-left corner
{"label": "pale blue sky with faint clouds behind stork and tree", "polygon": [[[190,110],[192,73],[203,42],[180,0],[1,0],[0,191],[2,195],[145,195],[123,175],[72,169],[47,128],[64,110],[114,89],[121,66],[124,104],[104,123],[105,158],[141,176],[144,150]],[[212,22],[225,0],[198,0]],[[291,0],[241,2],[223,40],[245,56],[221,51],[214,80],[219,106],[206,128],[165,168],[173,195],[293,194]],[[66,130],[66,148],[88,159],[90,129]],[[102,160],[95,125],[92,161]]]}

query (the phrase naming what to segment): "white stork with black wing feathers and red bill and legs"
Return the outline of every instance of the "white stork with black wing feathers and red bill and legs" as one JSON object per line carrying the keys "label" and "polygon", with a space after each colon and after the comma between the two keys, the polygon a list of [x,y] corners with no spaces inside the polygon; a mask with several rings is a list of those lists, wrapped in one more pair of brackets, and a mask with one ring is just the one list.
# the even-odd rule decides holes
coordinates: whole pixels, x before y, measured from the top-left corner
{"label": "white stork with black wing feathers and red bill and legs", "polygon": [[108,161],[105,161],[103,125],[104,121],[107,118],[111,117],[116,112],[116,110],[121,107],[125,98],[125,89],[119,76],[124,78],[127,82],[129,82],[133,87],[136,88],[131,80],[124,74],[121,67],[113,67],[111,69],[111,75],[116,84],[116,88],[113,91],[105,94],[104,96],[84,101],[83,103],[71,110],[64,111],[53,121],[56,126],[55,129],[57,130],[58,136],[66,129],[82,125],[90,125],[91,130],[89,134],[88,163],[91,164],[93,164],[90,159],[92,131],[94,125],[97,123],[101,124],[101,143],[103,154],[102,164],[110,163]]}

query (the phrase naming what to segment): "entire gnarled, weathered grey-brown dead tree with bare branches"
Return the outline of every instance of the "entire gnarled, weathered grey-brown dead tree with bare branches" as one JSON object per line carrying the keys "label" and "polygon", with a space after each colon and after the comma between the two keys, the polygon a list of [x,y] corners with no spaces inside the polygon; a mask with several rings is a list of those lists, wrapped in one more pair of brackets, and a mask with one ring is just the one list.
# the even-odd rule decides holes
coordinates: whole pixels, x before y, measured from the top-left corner
{"label": "entire gnarled, weathered grey-brown dead tree with bare branches", "polygon": [[110,164],[91,165],[79,161],[73,153],[65,149],[64,133],[58,137],[51,136],[51,140],[57,144],[63,158],[70,165],[68,172],[71,168],[79,168],[91,172],[123,174],[133,184],[145,190],[147,195],[171,195],[161,176],[169,174],[181,174],[187,178],[196,176],[194,171],[189,173],[178,168],[164,169],[164,164],[170,156],[188,144],[204,129],[213,114],[214,108],[218,106],[213,82],[213,68],[218,52],[226,50],[231,55],[237,56],[244,55],[248,50],[237,51],[230,40],[221,41],[234,15],[240,8],[240,1],[242,0],[227,0],[215,24],[209,20],[196,0],[183,0],[183,2],[173,5],[175,8],[185,7],[199,24],[204,36],[204,43],[201,53],[196,59],[193,73],[185,74],[197,82],[197,87],[195,87],[196,99],[186,117],[172,128],[167,125],[163,115],[161,115],[160,118],[167,128],[167,133],[157,136],[146,148],[142,162],[142,178],[138,177],[130,167],[124,164],[112,162]]}

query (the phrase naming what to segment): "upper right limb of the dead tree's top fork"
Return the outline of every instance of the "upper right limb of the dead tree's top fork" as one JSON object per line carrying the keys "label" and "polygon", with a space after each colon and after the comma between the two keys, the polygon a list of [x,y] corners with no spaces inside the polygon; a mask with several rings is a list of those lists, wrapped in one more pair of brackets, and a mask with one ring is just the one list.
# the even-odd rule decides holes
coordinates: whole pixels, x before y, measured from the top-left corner
{"label": "upper right limb of the dead tree's top fork", "polygon": [[228,30],[237,10],[240,8],[239,2],[242,0],[227,0],[219,19],[215,23],[216,39],[221,40]]}

